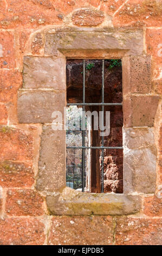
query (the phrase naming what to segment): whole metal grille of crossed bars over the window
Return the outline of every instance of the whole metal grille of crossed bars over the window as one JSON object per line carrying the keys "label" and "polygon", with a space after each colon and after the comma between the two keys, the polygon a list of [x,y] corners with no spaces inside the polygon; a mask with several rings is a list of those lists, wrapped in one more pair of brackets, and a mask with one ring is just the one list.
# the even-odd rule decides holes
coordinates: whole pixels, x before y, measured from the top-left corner
{"label": "whole metal grille of crossed bars over the window", "polygon": [[[105,103],[104,102],[104,59],[102,60],[102,102],[101,103],[86,103],[85,102],[85,78],[86,68],[85,59],[83,60],[83,99],[82,103],[67,103],[67,106],[82,106],[83,107],[83,127],[85,127],[85,106],[102,106],[102,127],[104,123],[104,106],[122,106],[122,103]],[[82,147],[66,147],[67,149],[82,149],[82,192],[85,191],[85,149],[100,149],[101,150],[101,192],[104,192],[104,149],[123,149],[123,147],[104,147],[104,136],[100,147],[85,147],[85,129],[82,131]]]}

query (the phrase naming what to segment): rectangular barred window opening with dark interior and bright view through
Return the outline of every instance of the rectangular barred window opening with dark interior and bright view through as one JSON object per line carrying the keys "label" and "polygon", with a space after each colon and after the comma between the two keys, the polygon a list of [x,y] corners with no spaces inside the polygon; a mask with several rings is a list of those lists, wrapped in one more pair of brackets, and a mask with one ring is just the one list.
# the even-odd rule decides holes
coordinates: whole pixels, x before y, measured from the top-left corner
{"label": "rectangular barred window opening with dark interior and bright view through", "polygon": [[[120,168],[118,168],[118,166],[115,167],[114,159],[116,159],[115,157],[118,158],[118,155],[120,155],[119,158],[121,161],[122,153],[119,152],[121,152],[120,150],[122,150],[122,139],[120,141],[120,145],[116,145],[115,141],[113,142],[113,138],[111,137],[111,142],[108,142],[108,144],[111,143],[112,145],[106,145],[105,141],[109,141],[109,135],[105,136],[102,130],[103,127],[107,124],[105,119],[106,117],[108,117],[108,115],[106,113],[113,112],[113,108],[120,107],[121,113],[120,117],[116,118],[115,129],[116,133],[118,133],[118,127],[120,133],[122,131],[122,83],[120,77],[120,79],[118,79],[119,81],[117,81],[117,83],[115,84],[116,81],[114,75],[114,82],[111,81],[111,86],[113,87],[113,90],[107,82],[109,81],[109,78],[107,78],[106,80],[105,87],[105,69],[106,74],[110,74],[110,77],[112,77],[114,69],[119,70],[121,73],[121,60],[84,59],[67,60],[67,63],[68,103],[66,118],[68,124],[70,123],[71,125],[70,128],[68,127],[66,131],[67,186],[72,187],[76,190],[81,190],[82,192],[111,192],[111,190],[113,191],[113,185],[110,191],[106,190],[106,186],[108,186],[107,172],[109,172],[108,176],[111,176],[111,168],[114,168],[114,173],[112,173],[112,175],[116,175],[114,178],[115,184],[115,181],[119,180],[118,178],[121,173],[121,166]],[[96,67],[98,69],[96,70],[96,72],[99,73],[97,75],[95,74]],[[97,76],[96,81],[93,79],[93,76],[89,76],[91,81],[87,80],[86,78],[86,76],[88,76],[92,70],[95,74],[94,79],[95,76]],[[73,77],[70,77],[71,75],[69,74],[72,73]],[[92,84],[92,86],[90,86],[90,84]],[[97,90],[96,87],[98,87]],[[105,89],[107,91],[106,95]],[[92,95],[94,95],[93,100]],[[115,100],[116,102],[114,102]],[[87,113],[87,111],[92,111],[91,113],[93,113],[95,109],[98,113],[99,118],[97,124],[99,128],[98,131],[94,129],[95,117],[92,115],[92,119],[90,120],[85,114]],[[115,118],[113,117],[113,121],[114,120]],[[78,126],[77,129],[75,129],[76,124]],[[111,129],[112,127],[110,127],[110,130]],[[118,135],[115,136],[118,137]],[[115,152],[113,154],[116,154],[116,156],[111,157],[111,152]],[[106,170],[106,165],[108,166],[109,170]]]}

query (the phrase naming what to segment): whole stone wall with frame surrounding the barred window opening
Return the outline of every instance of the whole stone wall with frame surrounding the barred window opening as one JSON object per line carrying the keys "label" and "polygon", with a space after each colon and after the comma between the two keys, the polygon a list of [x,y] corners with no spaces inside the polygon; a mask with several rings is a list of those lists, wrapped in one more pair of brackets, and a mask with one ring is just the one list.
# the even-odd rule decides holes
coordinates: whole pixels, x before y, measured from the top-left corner
{"label": "whole stone wall with frame surrounding the barred window opening", "polygon": [[[159,245],[161,1],[2,0],[0,12],[0,243]],[[55,34],[59,29],[62,32]],[[72,29],[75,34],[69,34]],[[81,36],[80,30],[84,31]],[[98,35],[90,31],[98,31]],[[68,191],[74,198],[73,211],[68,208],[71,202],[66,198],[67,191],[57,192],[55,199],[50,195],[58,189],[58,180],[65,186],[61,158],[64,133],[51,134],[48,126],[50,107],[62,109],[65,103],[65,62],[61,54],[75,58],[124,57],[124,193],[129,194],[120,198],[112,194],[108,201],[100,196],[95,205],[92,196],[89,208],[84,206],[86,214],[78,210],[80,195]],[[24,56],[32,58],[25,57],[23,71]],[[32,62],[34,74],[27,77]],[[49,66],[53,66],[55,75]],[[44,148],[47,143],[49,151]],[[49,164],[44,172],[44,162],[51,158],[53,166]],[[54,169],[55,180],[51,180]],[[48,198],[44,191],[48,191]],[[66,201],[63,205],[61,198]]]}

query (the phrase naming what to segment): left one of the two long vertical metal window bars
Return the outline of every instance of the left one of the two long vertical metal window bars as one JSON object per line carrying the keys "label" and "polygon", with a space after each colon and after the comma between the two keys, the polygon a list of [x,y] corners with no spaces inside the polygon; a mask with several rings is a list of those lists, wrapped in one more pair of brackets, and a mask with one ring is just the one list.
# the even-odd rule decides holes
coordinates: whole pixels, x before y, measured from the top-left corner
{"label": "left one of the two long vertical metal window bars", "polygon": [[[83,60],[83,103],[85,103],[85,59]],[[85,147],[85,106],[82,115],[82,146]],[[82,149],[82,192],[85,191],[85,149]]]}

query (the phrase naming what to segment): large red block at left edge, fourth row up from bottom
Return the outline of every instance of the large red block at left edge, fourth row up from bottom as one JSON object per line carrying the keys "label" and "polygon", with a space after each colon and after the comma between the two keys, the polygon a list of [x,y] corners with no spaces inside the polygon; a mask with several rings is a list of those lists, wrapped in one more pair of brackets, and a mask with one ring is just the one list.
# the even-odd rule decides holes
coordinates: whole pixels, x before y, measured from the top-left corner
{"label": "large red block at left edge, fourth row up from bottom", "polygon": [[31,160],[33,137],[11,126],[0,126],[0,160]]}

